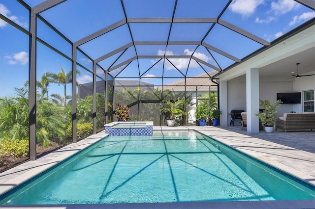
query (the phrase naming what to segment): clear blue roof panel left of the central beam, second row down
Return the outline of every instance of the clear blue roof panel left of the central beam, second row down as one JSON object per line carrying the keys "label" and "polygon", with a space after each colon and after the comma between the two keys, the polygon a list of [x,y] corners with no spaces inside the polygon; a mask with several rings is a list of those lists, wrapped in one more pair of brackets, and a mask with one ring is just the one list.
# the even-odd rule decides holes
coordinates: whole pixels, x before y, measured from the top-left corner
{"label": "clear blue roof panel left of the central beam, second row down", "polygon": [[167,41],[170,24],[130,23],[134,41]]}

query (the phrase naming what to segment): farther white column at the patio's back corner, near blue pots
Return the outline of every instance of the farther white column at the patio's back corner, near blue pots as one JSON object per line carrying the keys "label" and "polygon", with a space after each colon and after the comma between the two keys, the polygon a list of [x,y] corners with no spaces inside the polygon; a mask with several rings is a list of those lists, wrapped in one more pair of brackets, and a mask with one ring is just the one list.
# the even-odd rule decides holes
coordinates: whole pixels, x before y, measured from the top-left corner
{"label": "farther white column at the patio's back corner, near blue pots", "polygon": [[220,110],[222,111],[220,125],[227,126],[228,119],[227,119],[227,81],[221,81],[220,85]]}

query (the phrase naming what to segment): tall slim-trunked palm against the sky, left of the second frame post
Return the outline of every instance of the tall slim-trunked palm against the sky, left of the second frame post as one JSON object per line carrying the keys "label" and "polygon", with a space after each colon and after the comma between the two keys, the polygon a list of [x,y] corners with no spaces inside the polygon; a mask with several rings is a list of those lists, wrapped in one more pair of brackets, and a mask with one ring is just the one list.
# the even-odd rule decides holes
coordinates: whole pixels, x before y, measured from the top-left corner
{"label": "tall slim-trunked palm against the sky, left of the second frame post", "polygon": [[[52,83],[57,83],[58,85],[63,85],[64,91],[63,91],[63,106],[65,107],[67,105],[67,94],[66,94],[66,86],[67,83],[72,83],[72,72],[69,71],[68,73],[65,73],[62,66],[60,66],[61,72],[56,73],[47,73],[47,78],[49,78]],[[81,75],[80,71],[77,70],[77,74]]]}

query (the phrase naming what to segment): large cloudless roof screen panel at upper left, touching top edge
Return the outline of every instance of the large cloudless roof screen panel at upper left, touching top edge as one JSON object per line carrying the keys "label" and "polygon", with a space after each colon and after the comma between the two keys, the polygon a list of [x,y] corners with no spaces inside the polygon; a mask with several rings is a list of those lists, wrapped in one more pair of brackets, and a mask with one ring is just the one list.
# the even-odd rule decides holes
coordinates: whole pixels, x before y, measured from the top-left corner
{"label": "large cloudless roof screen panel at upper left, touching top edge", "polygon": [[40,15],[73,42],[125,19],[119,0],[66,0]]}

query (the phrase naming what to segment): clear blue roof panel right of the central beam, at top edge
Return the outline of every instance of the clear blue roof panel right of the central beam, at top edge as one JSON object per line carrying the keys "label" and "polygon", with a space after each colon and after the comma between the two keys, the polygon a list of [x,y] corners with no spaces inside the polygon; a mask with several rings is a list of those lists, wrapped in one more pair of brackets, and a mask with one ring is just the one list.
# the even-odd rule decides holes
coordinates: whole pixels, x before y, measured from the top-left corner
{"label": "clear blue roof panel right of the central beam, at top edge", "polygon": [[178,0],[175,18],[217,18],[228,0]]}

